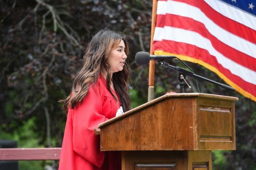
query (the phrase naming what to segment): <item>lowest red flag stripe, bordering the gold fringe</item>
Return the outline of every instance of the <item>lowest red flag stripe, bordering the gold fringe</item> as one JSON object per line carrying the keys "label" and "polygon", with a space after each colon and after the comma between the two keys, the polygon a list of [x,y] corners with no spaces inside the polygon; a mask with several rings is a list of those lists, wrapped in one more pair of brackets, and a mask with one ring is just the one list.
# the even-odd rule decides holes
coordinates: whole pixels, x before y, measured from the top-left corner
{"label": "lowest red flag stripe, bordering the gold fringe", "polygon": [[[187,50],[189,49],[189,51]],[[230,72],[227,68],[224,68],[218,63],[217,59],[209,54],[205,49],[198,48],[195,45],[186,44],[183,42],[175,42],[170,40],[154,41],[153,51],[163,50],[172,51],[174,54],[180,54],[185,56],[190,56],[195,59],[200,59],[209,65],[217,68],[222,74],[224,74],[228,79],[234,82],[236,85],[240,86],[244,91],[256,96],[256,85],[246,82],[241,77],[238,77]],[[196,73],[197,74],[197,73]]]}

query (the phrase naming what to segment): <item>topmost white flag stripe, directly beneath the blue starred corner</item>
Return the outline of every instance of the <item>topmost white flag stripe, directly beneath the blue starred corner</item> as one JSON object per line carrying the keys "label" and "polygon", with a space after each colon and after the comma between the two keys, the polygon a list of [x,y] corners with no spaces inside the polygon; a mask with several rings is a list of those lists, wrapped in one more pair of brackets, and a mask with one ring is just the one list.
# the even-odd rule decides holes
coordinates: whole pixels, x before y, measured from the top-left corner
{"label": "topmost white flag stripe, directly beneath the blue starred corner", "polygon": [[256,30],[256,17],[253,14],[242,11],[242,9],[233,7],[221,0],[204,0],[209,6],[211,6],[215,11],[218,11],[225,17],[231,20],[237,21],[244,26]]}

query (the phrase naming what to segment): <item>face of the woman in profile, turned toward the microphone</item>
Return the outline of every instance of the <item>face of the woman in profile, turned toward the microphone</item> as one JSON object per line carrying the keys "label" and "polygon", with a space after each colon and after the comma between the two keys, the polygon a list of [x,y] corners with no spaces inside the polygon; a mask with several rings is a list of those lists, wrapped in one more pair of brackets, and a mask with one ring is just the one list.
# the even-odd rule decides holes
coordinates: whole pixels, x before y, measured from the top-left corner
{"label": "face of the woman in profile, turned toward the microphone", "polygon": [[111,54],[107,59],[108,64],[111,66],[112,73],[122,71],[126,58],[125,43],[121,40],[117,48],[111,51]]}

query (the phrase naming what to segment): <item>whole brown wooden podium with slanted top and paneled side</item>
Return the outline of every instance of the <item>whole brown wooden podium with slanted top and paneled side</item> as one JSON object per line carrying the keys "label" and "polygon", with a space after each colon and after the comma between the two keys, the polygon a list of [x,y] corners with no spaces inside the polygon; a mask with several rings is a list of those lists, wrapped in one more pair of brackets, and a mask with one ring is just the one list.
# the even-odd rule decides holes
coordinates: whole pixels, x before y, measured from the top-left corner
{"label": "whole brown wooden podium with slanted top and paneled side", "polygon": [[99,124],[122,170],[212,170],[211,150],[236,150],[236,97],[166,94]]}

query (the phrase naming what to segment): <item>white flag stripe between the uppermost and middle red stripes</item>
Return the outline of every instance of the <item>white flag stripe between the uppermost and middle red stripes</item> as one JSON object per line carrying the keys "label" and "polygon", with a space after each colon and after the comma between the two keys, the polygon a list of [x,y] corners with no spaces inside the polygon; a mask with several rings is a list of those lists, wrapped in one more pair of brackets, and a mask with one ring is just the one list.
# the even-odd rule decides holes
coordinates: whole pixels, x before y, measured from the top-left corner
{"label": "white flag stripe between the uppermost and middle red stripes", "polygon": [[166,13],[189,17],[203,23],[210,34],[216,37],[219,41],[243,52],[244,54],[256,58],[256,44],[224,30],[212,22],[212,20],[210,20],[199,8],[177,1],[159,1],[157,5],[157,14]]}

